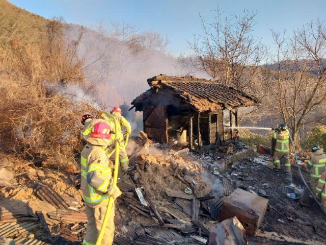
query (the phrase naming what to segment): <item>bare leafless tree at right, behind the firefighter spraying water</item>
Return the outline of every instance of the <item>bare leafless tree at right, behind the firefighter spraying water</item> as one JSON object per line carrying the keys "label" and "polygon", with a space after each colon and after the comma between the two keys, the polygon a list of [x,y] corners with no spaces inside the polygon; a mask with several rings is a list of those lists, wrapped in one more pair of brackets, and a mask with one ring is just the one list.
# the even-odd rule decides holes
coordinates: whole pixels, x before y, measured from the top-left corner
{"label": "bare leafless tree at right, behind the firefighter spraying water", "polygon": [[272,100],[268,108],[292,130],[298,132],[326,119],[320,113],[326,98],[326,27],[319,20],[285,34],[271,32],[277,46],[277,62],[263,69],[263,85]]}

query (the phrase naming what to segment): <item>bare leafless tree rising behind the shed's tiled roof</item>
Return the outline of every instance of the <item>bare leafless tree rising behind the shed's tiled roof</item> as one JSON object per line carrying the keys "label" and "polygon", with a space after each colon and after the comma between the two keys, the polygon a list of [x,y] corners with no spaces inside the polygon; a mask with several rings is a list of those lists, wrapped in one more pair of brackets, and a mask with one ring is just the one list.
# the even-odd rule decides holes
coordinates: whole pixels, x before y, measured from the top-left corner
{"label": "bare leafless tree rising behind the shed's tiled roof", "polygon": [[206,23],[200,15],[202,34],[188,41],[196,54],[196,64],[223,84],[246,89],[253,83],[264,56],[260,40],[251,35],[257,13],[243,10],[242,15],[223,18],[219,7],[213,12],[212,23]]}

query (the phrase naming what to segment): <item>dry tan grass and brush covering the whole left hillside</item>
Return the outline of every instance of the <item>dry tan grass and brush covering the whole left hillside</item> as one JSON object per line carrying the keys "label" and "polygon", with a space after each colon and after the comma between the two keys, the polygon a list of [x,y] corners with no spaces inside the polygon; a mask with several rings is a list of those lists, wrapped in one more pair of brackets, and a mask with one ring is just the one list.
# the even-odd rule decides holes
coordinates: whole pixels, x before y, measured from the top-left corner
{"label": "dry tan grass and brush covering the whole left hillside", "polygon": [[47,83],[83,83],[77,40],[62,40],[62,19],[51,21],[0,0],[0,151],[75,162],[83,147],[80,115],[98,111],[74,103]]}

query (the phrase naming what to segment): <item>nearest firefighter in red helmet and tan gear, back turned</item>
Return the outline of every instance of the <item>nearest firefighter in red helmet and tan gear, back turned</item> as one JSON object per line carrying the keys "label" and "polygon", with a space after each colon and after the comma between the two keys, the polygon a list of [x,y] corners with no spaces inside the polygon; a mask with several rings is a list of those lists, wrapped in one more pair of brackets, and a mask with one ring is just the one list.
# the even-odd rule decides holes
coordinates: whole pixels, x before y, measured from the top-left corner
{"label": "nearest firefighter in red helmet and tan gear, back turned", "polygon": [[[83,241],[85,245],[94,245],[96,243],[109,197],[116,199],[121,194],[117,186],[113,187],[112,169],[103,149],[111,143],[110,138],[110,126],[104,120],[97,122],[92,127],[91,133],[86,139],[87,145],[80,156],[82,190],[88,219],[86,235]],[[113,243],[115,229],[114,206],[113,202],[102,245],[111,245]]]}

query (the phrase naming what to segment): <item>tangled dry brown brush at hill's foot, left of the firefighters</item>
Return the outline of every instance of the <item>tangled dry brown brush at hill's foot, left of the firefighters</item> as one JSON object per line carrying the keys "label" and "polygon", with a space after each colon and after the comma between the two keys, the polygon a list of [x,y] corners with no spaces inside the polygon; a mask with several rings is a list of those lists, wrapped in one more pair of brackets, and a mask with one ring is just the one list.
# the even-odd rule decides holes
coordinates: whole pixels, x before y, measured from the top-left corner
{"label": "tangled dry brown brush at hill's foot, left of the firefighters", "polygon": [[0,81],[1,150],[74,162],[83,147],[80,115],[97,114],[87,103],[73,103],[41,83]]}

